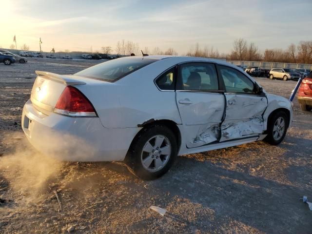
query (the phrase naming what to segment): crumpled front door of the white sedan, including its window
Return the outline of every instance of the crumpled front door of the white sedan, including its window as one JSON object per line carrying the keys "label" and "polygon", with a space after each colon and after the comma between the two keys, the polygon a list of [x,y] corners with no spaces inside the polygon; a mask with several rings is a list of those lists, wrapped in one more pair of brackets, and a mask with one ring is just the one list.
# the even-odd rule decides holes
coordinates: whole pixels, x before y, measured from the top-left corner
{"label": "crumpled front door of the white sedan, including its window", "polygon": [[268,106],[258,85],[238,70],[218,65],[225,86],[226,116],[221,124],[220,142],[262,134],[262,114]]}

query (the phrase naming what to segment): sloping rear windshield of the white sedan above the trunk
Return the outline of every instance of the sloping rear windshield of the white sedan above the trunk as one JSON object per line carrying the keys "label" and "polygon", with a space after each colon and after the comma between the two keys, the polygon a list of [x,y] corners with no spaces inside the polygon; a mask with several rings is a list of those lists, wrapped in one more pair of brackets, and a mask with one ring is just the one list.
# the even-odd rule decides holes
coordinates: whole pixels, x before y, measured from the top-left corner
{"label": "sloping rear windshield of the white sedan above the trunk", "polygon": [[116,80],[121,79],[130,73],[156,61],[157,59],[148,59],[144,57],[113,59],[82,70],[75,75],[115,82]]}

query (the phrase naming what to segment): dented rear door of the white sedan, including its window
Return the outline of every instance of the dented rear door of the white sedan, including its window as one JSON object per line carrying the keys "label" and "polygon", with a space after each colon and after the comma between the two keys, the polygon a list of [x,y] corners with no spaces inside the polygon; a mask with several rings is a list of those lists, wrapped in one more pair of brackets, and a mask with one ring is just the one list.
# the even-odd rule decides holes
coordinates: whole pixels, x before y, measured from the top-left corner
{"label": "dented rear door of the white sedan, including its window", "polygon": [[225,107],[223,92],[219,90],[215,64],[189,62],[179,65],[176,103],[188,148],[219,140]]}

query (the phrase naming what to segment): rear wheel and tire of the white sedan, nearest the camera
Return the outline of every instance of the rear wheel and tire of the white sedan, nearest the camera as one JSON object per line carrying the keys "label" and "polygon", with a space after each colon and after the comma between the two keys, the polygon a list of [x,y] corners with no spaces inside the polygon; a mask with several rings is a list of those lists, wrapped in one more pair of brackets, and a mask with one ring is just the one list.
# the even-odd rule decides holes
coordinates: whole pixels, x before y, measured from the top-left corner
{"label": "rear wheel and tire of the white sedan, nearest the camera", "polygon": [[144,180],[164,175],[177,156],[174,133],[164,125],[147,127],[135,137],[125,163],[130,172]]}

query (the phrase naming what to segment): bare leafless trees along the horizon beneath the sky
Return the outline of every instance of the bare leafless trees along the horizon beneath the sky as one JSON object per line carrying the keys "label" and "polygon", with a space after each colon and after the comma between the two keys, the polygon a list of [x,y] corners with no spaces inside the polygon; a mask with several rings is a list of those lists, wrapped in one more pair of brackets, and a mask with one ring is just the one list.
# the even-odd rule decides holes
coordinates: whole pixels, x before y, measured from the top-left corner
{"label": "bare leafless trees along the horizon beneath the sky", "polygon": [[[10,48],[13,48],[12,44]],[[29,46],[23,44],[21,50],[29,50]],[[69,50],[65,50],[69,52]],[[178,55],[176,50],[172,47],[162,50],[159,47],[149,49],[145,47],[142,49],[144,54],[149,55]],[[92,46],[91,53],[94,53]],[[95,53],[112,54],[115,52],[118,55],[140,55],[141,48],[139,44],[131,40],[122,39],[117,41],[116,48],[111,46],[102,46],[100,51]],[[286,49],[265,49],[260,51],[254,42],[248,42],[246,39],[235,39],[233,48],[230,53],[220,54],[217,48],[201,47],[199,43],[191,46],[186,56],[205,57],[205,58],[226,58],[227,60],[240,60],[240,61],[265,61],[265,62],[287,62],[287,63],[312,63],[312,41],[300,41],[297,45],[290,44]]]}

